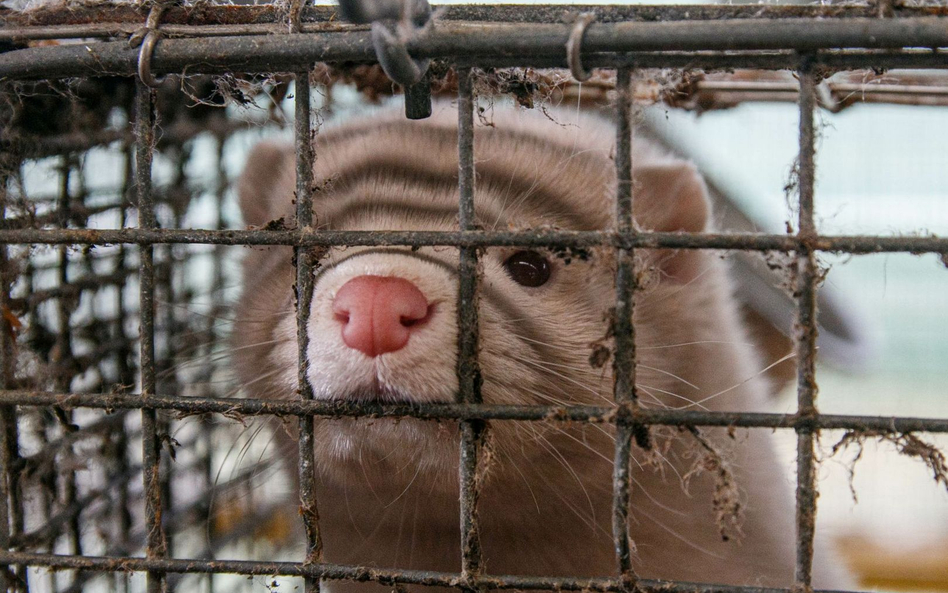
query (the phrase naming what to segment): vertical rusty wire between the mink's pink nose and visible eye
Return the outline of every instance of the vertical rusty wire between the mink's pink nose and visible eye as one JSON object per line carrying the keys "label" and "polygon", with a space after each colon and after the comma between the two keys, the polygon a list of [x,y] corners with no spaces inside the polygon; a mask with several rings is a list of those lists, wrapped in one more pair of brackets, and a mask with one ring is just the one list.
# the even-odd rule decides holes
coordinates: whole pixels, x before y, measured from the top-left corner
{"label": "vertical rusty wire between the mink's pink nose and visible eye", "polygon": [[[458,222],[462,231],[477,227],[474,214],[474,73],[458,72]],[[477,361],[477,249],[462,247],[458,260],[458,397],[481,403],[481,372]],[[477,501],[478,463],[487,425],[481,420],[460,424],[461,573],[476,577],[481,566]]]}

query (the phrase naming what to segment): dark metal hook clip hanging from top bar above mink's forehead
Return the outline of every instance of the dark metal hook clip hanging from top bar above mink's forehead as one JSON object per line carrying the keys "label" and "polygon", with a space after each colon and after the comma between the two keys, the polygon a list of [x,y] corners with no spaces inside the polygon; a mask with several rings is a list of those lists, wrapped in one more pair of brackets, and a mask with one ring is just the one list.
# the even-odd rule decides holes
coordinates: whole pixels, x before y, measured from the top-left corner
{"label": "dark metal hook clip hanging from top bar above mink's forehead", "polygon": [[407,42],[431,18],[428,0],[339,0],[342,16],[372,24],[372,45],[385,74],[405,88],[405,116],[431,115],[431,85],[425,74],[431,60],[412,58]]}

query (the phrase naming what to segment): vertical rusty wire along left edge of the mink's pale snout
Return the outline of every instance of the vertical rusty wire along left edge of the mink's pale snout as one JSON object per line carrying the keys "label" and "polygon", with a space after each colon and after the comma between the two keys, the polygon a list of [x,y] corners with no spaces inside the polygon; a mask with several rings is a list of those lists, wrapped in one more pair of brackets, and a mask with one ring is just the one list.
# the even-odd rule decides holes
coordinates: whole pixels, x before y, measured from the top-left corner
{"label": "vertical rusty wire along left edge of the mink's pale snout", "polygon": [[[313,152],[310,118],[309,71],[296,73],[296,224],[303,231],[313,228]],[[313,300],[313,254],[302,247],[296,255],[296,337],[299,345],[299,391],[303,400],[313,399],[309,383],[309,313]],[[313,418],[300,418],[300,514],[306,531],[306,562],[322,560],[319,510],[316,504],[316,467],[313,460]],[[319,579],[306,579],[306,591],[318,591]]]}

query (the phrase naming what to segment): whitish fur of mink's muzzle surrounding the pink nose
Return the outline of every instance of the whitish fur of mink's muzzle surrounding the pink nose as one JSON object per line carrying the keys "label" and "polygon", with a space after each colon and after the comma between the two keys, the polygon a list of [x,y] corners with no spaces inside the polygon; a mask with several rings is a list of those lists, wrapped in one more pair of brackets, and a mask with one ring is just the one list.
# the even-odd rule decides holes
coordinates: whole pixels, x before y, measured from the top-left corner
{"label": "whitish fur of mink's muzzle surrounding the pink nose", "polygon": [[[332,310],[342,286],[358,276],[391,276],[408,280],[434,306],[430,318],[413,327],[408,343],[394,352],[369,357],[342,339],[342,324]],[[313,291],[309,321],[309,379],[321,400],[374,398],[377,386],[392,401],[449,402],[457,391],[457,282],[435,263],[412,254],[355,254],[326,269]],[[286,327],[283,327],[286,326]],[[281,324],[280,333],[296,334],[295,319]],[[296,368],[295,340],[274,350],[278,364]],[[295,372],[287,382],[295,386]]]}

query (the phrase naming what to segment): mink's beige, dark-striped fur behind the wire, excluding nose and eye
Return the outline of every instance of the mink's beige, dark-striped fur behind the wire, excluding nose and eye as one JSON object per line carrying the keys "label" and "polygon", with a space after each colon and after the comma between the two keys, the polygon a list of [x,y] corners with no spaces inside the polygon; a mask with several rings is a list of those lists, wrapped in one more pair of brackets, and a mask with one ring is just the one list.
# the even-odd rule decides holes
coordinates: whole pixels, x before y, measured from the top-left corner
{"label": "mink's beige, dark-striped fur behind the wire, excluding nose and eye", "polygon": [[[316,140],[320,228],[457,228],[457,113],[410,122],[397,114],[322,131]],[[613,128],[557,113],[497,110],[476,129],[477,213],[482,227],[605,229],[614,220]],[[694,167],[635,143],[636,221],[642,228],[703,230],[709,218]],[[292,221],[294,158],[263,145],[239,193],[247,222]],[[488,403],[612,401],[609,365],[590,366],[614,305],[614,255],[588,261],[551,255],[537,288],[514,283],[481,258],[480,363]],[[714,253],[638,252],[637,383],[643,405],[760,411],[767,385],[746,344],[725,266]],[[289,248],[257,248],[246,260],[235,369],[247,396],[296,394],[296,322]],[[454,248],[337,248],[316,271],[310,379],[319,399],[382,397],[452,401],[457,387]],[[436,303],[430,324],[404,349],[378,359],[346,348],[331,302],[360,274],[397,275]],[[276,343],[275,343],[276,342]],[[253,345],[260,344],[257,347]],[[265,377],[265,378],[262,378]],[[717,395],[720,394],[720,395]],[[691,404],[699,402],[700,405]],[[451,422],[319,420],[314,452],[326,559],[381,567],[459,568],[458,435]],[[682,477],[700,457],[694,439],[653,429],[655,450],[636,451],[631,533],[646,577],[786,586],[793,579],[793,504],[766,430],[705,429],[740,487],[742,532],[723,541],[712,507],[714,477]],[[613,430],[609,426],[493,422],[481,498],[486,569],[494,574],[615,574],[611,540]],[[288,513],[295,505],[288,503]],[[818,567],[818,584],[840,585]],[[334,584],[333,590],[374,585]]]}

